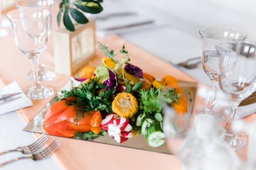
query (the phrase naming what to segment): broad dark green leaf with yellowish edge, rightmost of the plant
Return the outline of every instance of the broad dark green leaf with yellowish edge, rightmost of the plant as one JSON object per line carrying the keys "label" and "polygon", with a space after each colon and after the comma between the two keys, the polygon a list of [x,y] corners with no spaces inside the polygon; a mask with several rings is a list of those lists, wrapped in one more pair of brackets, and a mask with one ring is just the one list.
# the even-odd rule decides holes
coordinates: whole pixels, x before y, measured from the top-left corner
{"label": "broad dark green leaf with yellowish edge, rightmost of the plant", "polygon": [[100,13],[103,10],[98,1],[75,1],[74,5],[87,13]]}

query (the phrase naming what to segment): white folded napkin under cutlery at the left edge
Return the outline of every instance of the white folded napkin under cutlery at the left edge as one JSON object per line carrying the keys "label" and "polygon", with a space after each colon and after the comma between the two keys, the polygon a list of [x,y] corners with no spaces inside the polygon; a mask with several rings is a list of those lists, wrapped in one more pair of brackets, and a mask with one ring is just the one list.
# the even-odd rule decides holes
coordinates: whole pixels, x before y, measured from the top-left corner
{"label": "white folded napkin under cutlery at the left edge", "polygon": [[0,104],[0,115],[33,105],[32,101],[25,94],[23,94],[21,87],[18,86],[16,81],[0,89],[0,95],[12,94],[12,93],[18,93],[18,92],[22,92],[22,94],[18,94],[15,97],[21,96],[21,98],[18,98],[14,101],[9,101],[9,102]]}

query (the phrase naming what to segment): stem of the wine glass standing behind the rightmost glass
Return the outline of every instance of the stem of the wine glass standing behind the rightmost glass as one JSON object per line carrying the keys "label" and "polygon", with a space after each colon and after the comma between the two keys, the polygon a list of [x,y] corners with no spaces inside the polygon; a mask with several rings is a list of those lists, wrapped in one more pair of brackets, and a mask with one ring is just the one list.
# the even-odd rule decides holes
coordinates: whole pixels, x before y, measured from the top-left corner
{"label": "stem of the wine glass standing behind the rightmost glass", "polygon": [[208,101],[208,104],[206,106],[206,109],[203,111],[204,113],[213,113],[213,106],[215,103],[216,98],[216,92],[218,90],[218,81],[211,80],[211,93],[210,93],[210,99]]}

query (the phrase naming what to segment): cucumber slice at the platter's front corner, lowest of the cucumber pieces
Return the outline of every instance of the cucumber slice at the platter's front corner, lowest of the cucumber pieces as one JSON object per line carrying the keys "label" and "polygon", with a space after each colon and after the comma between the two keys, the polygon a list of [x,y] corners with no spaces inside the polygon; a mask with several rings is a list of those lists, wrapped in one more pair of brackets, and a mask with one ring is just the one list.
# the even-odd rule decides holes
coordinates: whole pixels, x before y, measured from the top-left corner
{"label": "cucumber slice at the platter's front corner, lowest of the cucumber pieces", "polygon": [[164,144],[164,132],[161,130],[161,125],[159,123],[154,123],[151,125],[146,133],[146,140],[151,147],[160,147]]}

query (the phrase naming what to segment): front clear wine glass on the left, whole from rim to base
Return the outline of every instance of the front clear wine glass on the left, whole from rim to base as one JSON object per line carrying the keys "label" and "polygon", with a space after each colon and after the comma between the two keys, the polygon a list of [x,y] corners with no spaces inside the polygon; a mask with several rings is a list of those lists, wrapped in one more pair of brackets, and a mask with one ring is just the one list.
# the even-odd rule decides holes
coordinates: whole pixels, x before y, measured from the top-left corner
{"label": "front clear wine glass on the left, whole from rim to base", "polygon": [[51,96],[53,88],[41,85],[36,72],[39,57],[47,45],[50,12],[43,8],[22,8],[11,11],[6,16],[11,22],[18,49],[28,56],[33,67],[33,86],[24,92],[31,99]]}

